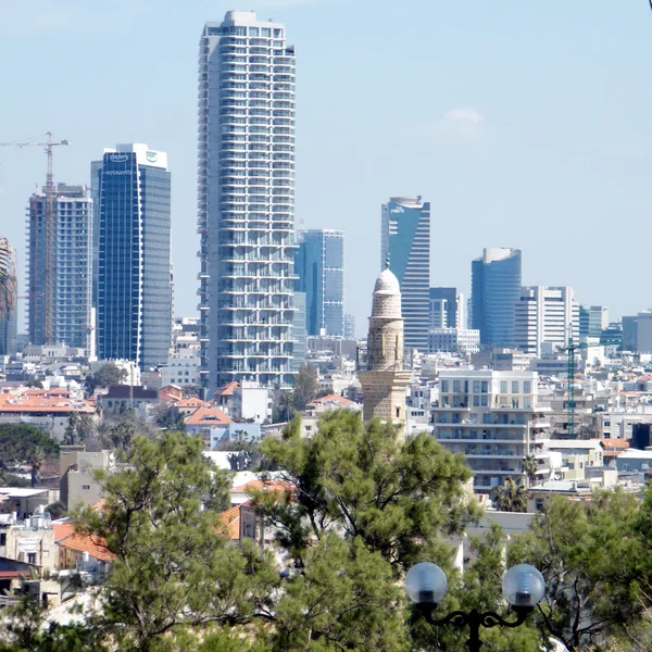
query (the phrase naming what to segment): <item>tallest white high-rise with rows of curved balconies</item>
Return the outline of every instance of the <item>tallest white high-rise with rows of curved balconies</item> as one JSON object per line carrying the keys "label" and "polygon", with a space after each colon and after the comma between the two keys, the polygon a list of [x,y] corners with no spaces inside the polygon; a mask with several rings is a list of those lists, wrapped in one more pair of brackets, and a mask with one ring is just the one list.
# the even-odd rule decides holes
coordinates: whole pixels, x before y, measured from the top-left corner
{"label": "tallest white high-rise with rows of curved balconies", "polygon": [[199,50],[202,384],[292,384],[294,48],[229,11]]}

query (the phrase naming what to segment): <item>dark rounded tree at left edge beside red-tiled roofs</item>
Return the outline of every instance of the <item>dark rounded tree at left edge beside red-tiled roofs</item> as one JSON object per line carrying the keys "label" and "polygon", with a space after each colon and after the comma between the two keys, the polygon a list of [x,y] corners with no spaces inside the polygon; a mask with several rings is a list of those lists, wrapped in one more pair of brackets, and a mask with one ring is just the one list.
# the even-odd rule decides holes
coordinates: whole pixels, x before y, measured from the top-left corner
{"label": "dark rounded tree at left edge beside red-tiled roofs", "polygon": [[47,457],[59,453],[49,435],[26,424],[0,425],[0,469],[32,467],[32,486],[36,487],[39,469]]}

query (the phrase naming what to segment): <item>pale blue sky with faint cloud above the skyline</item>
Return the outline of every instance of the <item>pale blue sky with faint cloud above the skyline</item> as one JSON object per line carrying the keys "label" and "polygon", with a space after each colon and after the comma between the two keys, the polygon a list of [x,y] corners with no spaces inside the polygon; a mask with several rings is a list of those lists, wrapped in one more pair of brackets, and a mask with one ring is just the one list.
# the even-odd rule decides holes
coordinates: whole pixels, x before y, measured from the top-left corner
{"label": "pale blue sky with faint cloud above the skyline", "polygon": [[[297,47],[297,226],[346,230],[359,336],[394,196],[430,201],[434,286],[467,293],[472,259],[514,247],[524,285],[572,286],[611,318],[652,305],[648,0],[0,0],[0,142],[70,139],[68,184],[116,142],[168,152],[176,315],[198,302],[198,42],[230,9]],[[0,147],[22,288],[45,172],[39,148]]]}

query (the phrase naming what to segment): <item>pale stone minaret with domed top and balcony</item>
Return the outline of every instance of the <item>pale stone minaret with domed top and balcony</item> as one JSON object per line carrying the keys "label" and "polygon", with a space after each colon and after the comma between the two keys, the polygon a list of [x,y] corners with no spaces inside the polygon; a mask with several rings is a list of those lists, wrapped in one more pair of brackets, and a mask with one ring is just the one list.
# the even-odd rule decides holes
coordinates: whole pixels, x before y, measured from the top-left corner
{"label": "pale stone minaret with domed top and balcony", "polygon": [[405,425],[405,388],[412,374],[403,369],[403,317],[399,280],[385,269],[376,279],[367,337],[367,371],[360,372],[364,421],[375,416]]}

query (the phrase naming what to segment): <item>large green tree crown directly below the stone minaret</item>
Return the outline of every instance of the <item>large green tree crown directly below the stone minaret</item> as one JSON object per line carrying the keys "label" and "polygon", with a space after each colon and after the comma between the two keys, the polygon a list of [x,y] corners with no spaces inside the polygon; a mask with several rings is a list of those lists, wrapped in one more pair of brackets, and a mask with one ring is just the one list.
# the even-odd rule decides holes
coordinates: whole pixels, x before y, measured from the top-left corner
{"label": "large green tree crown directly below the stone minaret", "polygon": [[471,477],[461,455],[427,435],[403,444],[392,426],[374,421],[365,427],[349,410],[326,414],[310,439],[301,438],[296,421],[283,440],[268,439],[262,450],[294,490],[285,503],[259,497],[260,509],[298,556],[312,538],[337,528],[405,567],[441,557],[440,534],[460,531],[474,516],[460,500]]}

